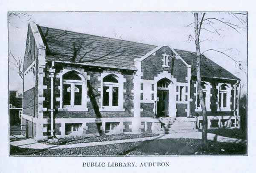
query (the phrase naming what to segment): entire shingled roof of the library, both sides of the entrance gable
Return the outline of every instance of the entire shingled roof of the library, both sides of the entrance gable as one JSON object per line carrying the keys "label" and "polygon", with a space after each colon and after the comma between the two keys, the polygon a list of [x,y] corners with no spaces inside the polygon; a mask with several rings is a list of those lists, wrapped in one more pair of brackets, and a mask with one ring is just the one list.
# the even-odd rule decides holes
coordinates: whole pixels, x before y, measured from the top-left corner
{"label": "entire shingled roof of the library, both sides of the entrance gable", "polygon": [[[149,52],[161,47],[38,25],[37,27],[46,46],[46,61],[137,70],[134,66],[135,58],[147,58]],[[192,65],[192,75],[196,75],[195,52],[174,50],[187,64]],[[206,57],[203,57],[201,62],[203,77],[239,80]]]}

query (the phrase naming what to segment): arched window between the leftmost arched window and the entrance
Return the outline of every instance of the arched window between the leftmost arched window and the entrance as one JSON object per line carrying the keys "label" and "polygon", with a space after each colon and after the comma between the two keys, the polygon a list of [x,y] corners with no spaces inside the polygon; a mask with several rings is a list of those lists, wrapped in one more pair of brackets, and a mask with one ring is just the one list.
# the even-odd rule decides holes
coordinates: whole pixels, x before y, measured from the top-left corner
{"label": "arched window between the leftmost arched window and the entrance", "polygon": [[119,106],[119,83],[116,75],[107,75],[103,78],[102,106]]}

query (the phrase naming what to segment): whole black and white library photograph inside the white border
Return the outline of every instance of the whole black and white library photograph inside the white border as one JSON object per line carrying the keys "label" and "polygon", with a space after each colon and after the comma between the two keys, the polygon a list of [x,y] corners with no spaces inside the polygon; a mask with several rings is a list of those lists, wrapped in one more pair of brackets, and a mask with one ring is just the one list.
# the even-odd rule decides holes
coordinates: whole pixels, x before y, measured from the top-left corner
{"label": "whole black and white library photograph inside the white border", "polygon": [[9,156],[247,156],[247,12],[8,12]]}

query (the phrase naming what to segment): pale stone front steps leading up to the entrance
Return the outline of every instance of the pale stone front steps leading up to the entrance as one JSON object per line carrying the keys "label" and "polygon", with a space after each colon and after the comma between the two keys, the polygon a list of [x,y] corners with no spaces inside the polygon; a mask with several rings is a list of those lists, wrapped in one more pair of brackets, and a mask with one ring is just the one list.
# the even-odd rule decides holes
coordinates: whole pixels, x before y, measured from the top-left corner
{"label": "pale stone front steps leading up to the entrance", "polygon": [[177,118],[161,118],[165,134],[169,133],[189,133],[198,132],[196,129],[196,121],[194,118],[177,117]]}

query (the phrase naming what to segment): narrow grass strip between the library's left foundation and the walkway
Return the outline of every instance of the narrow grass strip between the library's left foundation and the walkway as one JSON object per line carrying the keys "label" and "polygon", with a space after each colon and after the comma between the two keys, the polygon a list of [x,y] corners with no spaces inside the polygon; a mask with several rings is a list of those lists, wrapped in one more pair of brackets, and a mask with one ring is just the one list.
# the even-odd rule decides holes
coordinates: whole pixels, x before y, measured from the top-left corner
{"label": "narrow grass strip between the library's left foundation and the walkway", "polygon": [[56,142],[48,142],[48,141],[38,141],[44,144],[56,144],[56,145],[64,145],[64,144],[78,144],[78,143],[88,143],[88,142],[102,142],[102,141],[114,141],[114,140],[122,140],[122,139],[133,139],[133,138],[146,138],[152,136],[158,136],[159,134],[154,133],[141,133],[141,134],[115,134],[115,135],[103,135],[96,137],[70,137],[70,138],[60,138]]}

